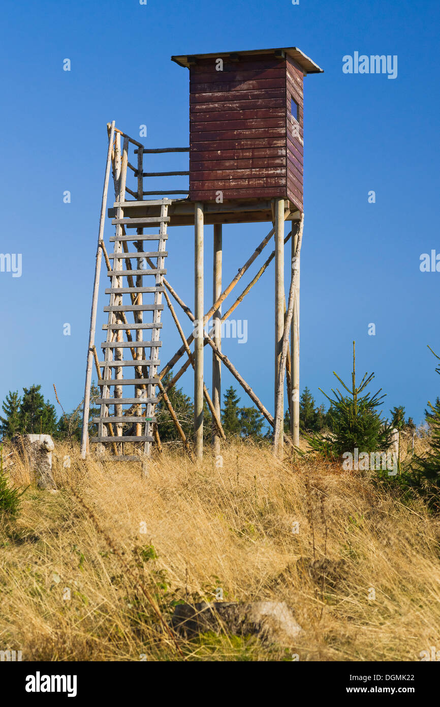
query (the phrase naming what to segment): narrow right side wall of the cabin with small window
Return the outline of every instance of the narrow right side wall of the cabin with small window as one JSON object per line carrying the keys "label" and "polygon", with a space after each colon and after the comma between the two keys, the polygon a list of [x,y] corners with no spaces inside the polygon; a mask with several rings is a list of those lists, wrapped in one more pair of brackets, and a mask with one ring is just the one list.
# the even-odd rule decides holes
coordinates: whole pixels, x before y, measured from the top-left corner
{"label": "narrow right side wall of the cabin with small window", "polygon": [[[304,139],[304,76],[290,57],[286,57],[287,109],[287,195],[299,211],[303,210],[303,139]],[[292,117],[291,99],[298,104],[298,123]],[[297,128],[299,137],[295,136]]]}

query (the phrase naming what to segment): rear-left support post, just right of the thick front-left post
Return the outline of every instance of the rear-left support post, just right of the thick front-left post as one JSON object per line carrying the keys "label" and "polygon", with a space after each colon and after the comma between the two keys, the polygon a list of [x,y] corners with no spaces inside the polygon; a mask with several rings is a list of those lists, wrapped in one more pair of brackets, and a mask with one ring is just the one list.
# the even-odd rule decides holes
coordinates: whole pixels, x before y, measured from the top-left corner
{"label": "rear-left support post, just right of the thick front-left post", "polygon": [[[216,302],[222,293],[222,224],[216,223],[214,226],[214,256],[213,256],[213,302]],[[222,350],[222,308],[221,305],[213,314],[214,335],[213,341]],[[213,405],[218,419],[221,417],[221,382],[222,369],[220,358],[213,352]],[[220,437],[215,426],[213,427],[213,452],[217,456],[220,454]]]}

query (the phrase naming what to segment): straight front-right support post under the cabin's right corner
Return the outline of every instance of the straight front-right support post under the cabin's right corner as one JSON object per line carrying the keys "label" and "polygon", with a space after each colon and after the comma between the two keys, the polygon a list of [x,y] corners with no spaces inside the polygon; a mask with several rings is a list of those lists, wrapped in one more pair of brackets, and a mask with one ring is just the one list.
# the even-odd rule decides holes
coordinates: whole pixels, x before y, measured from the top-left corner
{"label": "straight front-right support post under the cabin's right corner", "polygon": [[[284,332],[284,199],[275,199],[275,407],[283,411],[284,388],[278,389]],[[280,398],[280,399],[278,399]],[[276,450],[275,450],[276,451]]]}

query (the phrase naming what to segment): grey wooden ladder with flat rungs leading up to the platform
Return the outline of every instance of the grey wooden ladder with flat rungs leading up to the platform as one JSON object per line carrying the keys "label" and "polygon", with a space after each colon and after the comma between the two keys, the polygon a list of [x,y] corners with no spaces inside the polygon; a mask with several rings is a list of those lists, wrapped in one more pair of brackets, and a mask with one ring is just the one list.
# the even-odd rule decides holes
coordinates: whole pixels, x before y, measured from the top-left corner
{"label": "grey wooden ladder with flat rungs leading up to the platform", "polygon": [[[158,356],[162,346],[160,329],[162,329],[161,315],[164,307],[162,304],[163,276],[166,274],[164,266],[165,257],[168,255],[165,247],[168,238],[167,222],[170,221],[167,213],[172,201],[165,198],[143,201],[145,206],[160,205],[160,216],[142,220],[137,218],[137,233],[126,235],[124,226],[129,219],[124,218],[124,203],[127,203],[124,202],[125,174],[126,170],[123,168],[122,178],[119,181],[119,199],[115,203],[116,218],[112,221],[116,225],[116,235],[109,239],[114,243],[114,252],[109,256],[109,259],[113,260],[113,269],[108,272],[112,278],[111,287],[105,290],[110,297],[109,305],[104,308],[104,311],[108,312],[108,322],[102,327],[107,330],[107,339],[101,344],[104,361],[99,363],[103,368],[102,380],[98,381],[98,385],[102,388],[102,397],[96,401],[100,404],[100,416],[93,419],[93,423],[98,424],[97,437],[90,438],[90,443],[98,443],[100,453],[103,452],[102,445],[116,444],[119,453],[114,454],[114,459],[140,460],[139,455],[124,454],[123,445],[142,443],[144,456],[148,457],[150,445],[154,441],[153,424],[156,421],[154,409],[157,403],[155,388],[158,384],[157,367],[160,364]],[[139,223],[140,221],[142,223]],[[144,227],[157,226],[159,233],[143,233]],[[149,243],[152,240],[158,241],[157,250],[143,250],[144,241]],[[136,252],[130,251],[127,245],[130,241],[136,247]],[[136,269],[132,269],[131,258],[136,258]],[[152,258],[156,259],[156,263],[152,263]],[[148,276],[155,278],[154,286],[144,286],[144,278]],[[133,278],[136,278],[136,281]],[[144,296],[148,294],[153,295],[154,299],[150,303],[145,303]],[[124,296],[129,297],[129,302],[124,301]],[[153,313],[151,322],[144,321],[145,312]],[[131,314],[133,323],[128,320]],[[148,341],[143,340],[145,330],[150,332]],[[134,341],[131,332],[135,334]],[[147,358],[145,351],[148,349],[150,355]],[[131,358],[124,358],[124,351],[127,351]],[[133,378],[124,378],[127,367],[134,368]],[[112,370],[114,370],[114,377],[112,377]],[[134,397],[123,397],[123,386],[126,385],[134,386]],[[114,387],[114,397],[110,397],[111,387]],[[127,405],[130,407],[124,410],[124,406]],[[145,412],[142,411],[143,406]],[[109,414],[110,407],[114,407],[113,416]],[[143,423],[145,427],[142,431]],[[124,426],[129,424],[131,428],[127,434]]]}

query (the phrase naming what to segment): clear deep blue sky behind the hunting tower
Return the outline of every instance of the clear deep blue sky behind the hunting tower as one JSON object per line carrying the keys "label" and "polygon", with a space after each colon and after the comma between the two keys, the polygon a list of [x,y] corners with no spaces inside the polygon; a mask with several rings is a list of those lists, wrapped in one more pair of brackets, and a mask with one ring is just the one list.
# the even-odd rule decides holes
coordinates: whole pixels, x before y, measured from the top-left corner
{"label": "clear deep blue sky behind the hunting tower", "polygon": [[[304,81],[301,388],[322,402],[318,388],[330,390],[333,370],[348,380],[355,339],[359,373],[374,370],[375,389],[388,394],[384,411],[404,404],[421,421],[427,399],[440,393],[427,349],[440,352],[440,273],[420,271],[422,253],[440,252],[439,15],[432,0],[5,0],[0,252],[21,253],[23,273],[0,272],[0,400],[32,383],[52,402],[55,383],[65,409],[83,396],[107,122],[135,139],[146,124],[148,147],[186,146],[189,74],[172,54],[297,46],[325,70]],[[397,78],[344,74],[343,56],[355,51],[396,54]],[[167,164],[185,169],[187,156]],[[71,204],[63,203],[65,190]],[[266,223],[224,227],[225,284],[268,230]],[[170,229],[167,259],[167,278],[191,308],[192,231]],[[111,234],[107,220],[107,240]],[[208,274],[210,226],[205,257]],[[257,260],[248,279],[258,267]],[[247,343],[224,342],[270,410],[273,291],[272,269],[237,309],[248,320]],[[206,303],[210,297],[207,277]],[[102,296],[97,344],[105,303]],[[63,334],[66,322],[71,336]],[[179,346],[167,314],[163,339],[165,362]],[[210,370],[206,349],[208,387]],[[181,380],[192,395],[190,373]],[[224,390],[231,382],[225,371]],[[244,393],[242,403],[250,404]]]}

